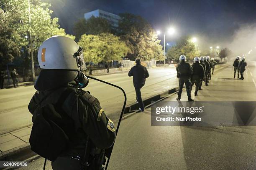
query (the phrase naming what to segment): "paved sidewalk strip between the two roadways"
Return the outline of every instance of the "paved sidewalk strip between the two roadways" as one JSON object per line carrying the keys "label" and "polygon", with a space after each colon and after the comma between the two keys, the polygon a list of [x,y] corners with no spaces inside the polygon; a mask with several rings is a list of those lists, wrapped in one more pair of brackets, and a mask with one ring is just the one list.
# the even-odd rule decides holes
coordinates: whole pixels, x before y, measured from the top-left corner
{"label": "paved sidewalk strip between the two roadways", "polygon": [[[225,67],[225,66],[223,65],[222,67]],[[220,66],[216,67],[215,72],[218,72],[218,70],[220,70],[222,67]],[[170,79],[166,79],[161,82],[156,82],[153,85],[143,87],[141,89],[143,101],[145,101],[150,97],[165,94],[166,92],[168,92],[168,90],[177,87],[178,84],[179,82],[177,80],[177,77],[176,75],[174,75]],[[135,90],[126,92],[126,95],[127,95],[126,106],[131,106],[136,104]],[[113,100],[108,99],[107,101],[108,105],[111,105],[112,102],[115,102],[115,104],[119,104],[120,106],[122,106],[123,100],[117,101],[116,98],[118,97],[113,98]],[[104,102],[104,100],[101,102]],[[112,108],[109,110],[109,112],[113,112],[115,115],[117,115],[115,113],[116,110],[117,110],[116,108]],[[109,117],[111,120],[115,120],[115,118],[112,118],[111,115],[109,115]],[[11,155],[12,153],[17,153],[19,150],[23,148],[29,148],[29,136],[31,133],[31,128],[32,128],[32,125],[28,125],[27,127],[23,127],[18,130],[10,131],[8,133],[0,135],[0,160],[3,160],[5,157],[8,157],[8,155]]]}

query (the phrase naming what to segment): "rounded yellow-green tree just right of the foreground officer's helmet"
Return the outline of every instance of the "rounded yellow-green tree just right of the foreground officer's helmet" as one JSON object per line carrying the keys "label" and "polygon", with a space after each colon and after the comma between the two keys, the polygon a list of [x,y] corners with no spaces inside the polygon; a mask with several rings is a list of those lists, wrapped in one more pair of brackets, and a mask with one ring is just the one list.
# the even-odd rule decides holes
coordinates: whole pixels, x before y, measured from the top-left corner
{"label": "rounded yellow-green tree just right of the foreground officer's helmet", "polygon": [[82,35],[78,42],[84,48],[84,60],[86,62],[110,62],[112,60],[120,60],[121,57],[129,52],[129,48],[119,37],[102,33],[100,35]]}

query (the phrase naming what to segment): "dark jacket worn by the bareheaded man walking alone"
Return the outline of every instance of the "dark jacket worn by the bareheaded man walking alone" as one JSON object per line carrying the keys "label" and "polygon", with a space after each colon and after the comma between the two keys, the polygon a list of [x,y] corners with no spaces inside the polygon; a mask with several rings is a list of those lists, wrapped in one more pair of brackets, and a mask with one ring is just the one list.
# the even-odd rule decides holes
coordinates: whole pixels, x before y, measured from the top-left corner
{"label": "dark jacket worn by the bareheaded man walking alone", "polygon": [[146,67],[140,64],[136,64],[128,72],[128,76],[133,76],[133,86],[134,87],[143,87],[146,82],[146,78],[149,77],[148,70]]}

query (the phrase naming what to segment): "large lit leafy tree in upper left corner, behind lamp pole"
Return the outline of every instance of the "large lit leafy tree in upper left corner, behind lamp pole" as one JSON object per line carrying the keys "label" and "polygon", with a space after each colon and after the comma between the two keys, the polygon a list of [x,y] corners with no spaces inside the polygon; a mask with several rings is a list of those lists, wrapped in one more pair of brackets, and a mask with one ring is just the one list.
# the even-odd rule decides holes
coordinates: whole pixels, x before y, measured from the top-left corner
{"label": "large lit leafy tree in upper left corner, behind lamp pole", "polygon": [[[53,11],[49,10],[51,6],[49,3],[33,0],[30,2],[30,6],[31,23],[29,23],[27,0],[0,1],[0,30],[9,31],[9,37],[12,37],[10,40],[19,51],[21,48],[28,49],[30,38],[28,32],[30,31],[32,32],[33,52],[35,53],[41,43],[53,35],[65,35],[74,39],[74,36],[67,35],[64,29],[59,28],[58,18],[51,18]],[[5,25],[2,25],[2,22]],[[0,42],[8,42],[7,37],[1,34]],[[8,51],[7,46],[3,47],[5,48],[3,51]],[[8,57],[6,62],[12,62],[13,58],[18,57],[18,55],[15,53],[15,55],[5,55],[5,57]]]}

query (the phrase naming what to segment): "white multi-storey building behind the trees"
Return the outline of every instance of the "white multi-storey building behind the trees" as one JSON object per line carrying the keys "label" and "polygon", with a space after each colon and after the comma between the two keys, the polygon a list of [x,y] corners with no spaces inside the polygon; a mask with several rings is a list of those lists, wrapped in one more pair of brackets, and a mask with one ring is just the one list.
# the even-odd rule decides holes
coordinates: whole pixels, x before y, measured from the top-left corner
{"label": "white multi-storey building behind the trees", "polygon": [[111,24],[111,26],[113,26],[114,28],[118,27],[118,20],[120,20],[120,17],[118,15],[115,15],[113,13],[108,13],[103,10],[94,10],[94,11],[84,14],[84,18],[86,20],[91,18],[92,16],[101,17],[101,18],[108,20],[109,23]]}

